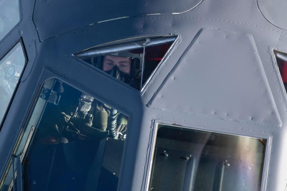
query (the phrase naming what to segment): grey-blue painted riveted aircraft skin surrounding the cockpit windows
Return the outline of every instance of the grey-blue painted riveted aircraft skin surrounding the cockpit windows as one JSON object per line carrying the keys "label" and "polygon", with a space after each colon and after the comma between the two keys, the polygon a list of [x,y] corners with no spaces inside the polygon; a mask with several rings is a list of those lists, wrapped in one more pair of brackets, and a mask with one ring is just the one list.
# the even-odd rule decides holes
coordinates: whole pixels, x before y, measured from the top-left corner
{"label": "grey-blue painted riveted aircraft skin surrounding the cockpit windows", "polygon": [[[287,52],[287,31],[265,19],[259,2],[204,0],[190,11],[173,15],[169,13],[189,10],[199,1],[181,1],[178,7],[168,1],[160,8],[148,7],[152,1],[146,6],[148,1],[128,1],[132,8],[118,3],[108,12],[95,11],[112,9],[106,1],[20,2],[21,22],[0,41],[1,58],[20,38],[28,56],[0,131],[0,175],[40,84],[56,77],[129,116],[118,190],[148,186],[157,122],[266,138],[261,190],[286,189],[286,91],[272,51]],[[147,15],[158,10],[160,15]],[[270,14],[277,13],[271,10]],[[125,16],[129,18],[97,23]],[[179,36],[176,45],[142,92],[72,56],[115,40],[170,33]]]}

